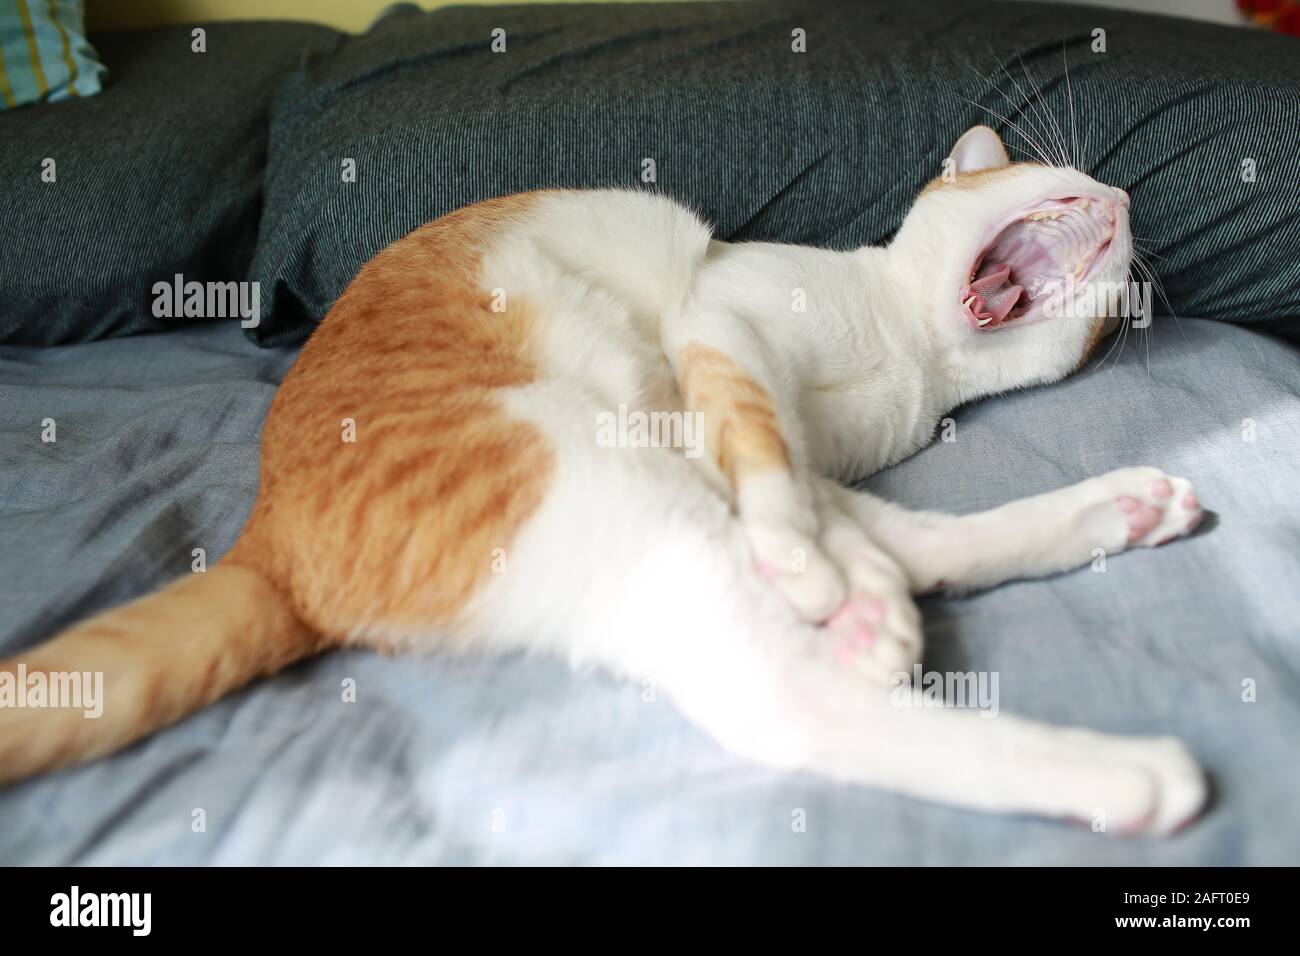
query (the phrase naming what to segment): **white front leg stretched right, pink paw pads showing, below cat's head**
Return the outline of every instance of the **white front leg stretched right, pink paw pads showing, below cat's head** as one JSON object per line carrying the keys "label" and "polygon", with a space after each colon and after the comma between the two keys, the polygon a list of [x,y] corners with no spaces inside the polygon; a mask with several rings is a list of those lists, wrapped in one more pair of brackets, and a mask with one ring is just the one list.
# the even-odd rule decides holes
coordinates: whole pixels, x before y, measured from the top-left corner
{"label": "white front leg stretched right, pink paw pads showing, below cat's head", "polygon": [[832,494],[905,568],[915,593],[1067,571],[1188,535],[1202,516],[1186,479],[1140,467],[971,515],[909,511],[838,486]]}

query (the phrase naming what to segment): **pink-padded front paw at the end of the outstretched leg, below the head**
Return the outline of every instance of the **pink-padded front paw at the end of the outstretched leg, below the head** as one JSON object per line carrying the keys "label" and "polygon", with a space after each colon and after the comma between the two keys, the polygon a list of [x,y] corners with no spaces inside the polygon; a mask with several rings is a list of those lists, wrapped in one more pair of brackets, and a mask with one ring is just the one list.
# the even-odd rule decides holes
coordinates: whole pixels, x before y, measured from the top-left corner
{"label": "pink-padded front paw at the end of the outstretched leg, below the head", "polygon": [[1205,516],[1192,484],[1158,468],[1119,468],[1093,483],[1100,501],[1092,507],[1110,550],[1156,548],[1190,535]]}

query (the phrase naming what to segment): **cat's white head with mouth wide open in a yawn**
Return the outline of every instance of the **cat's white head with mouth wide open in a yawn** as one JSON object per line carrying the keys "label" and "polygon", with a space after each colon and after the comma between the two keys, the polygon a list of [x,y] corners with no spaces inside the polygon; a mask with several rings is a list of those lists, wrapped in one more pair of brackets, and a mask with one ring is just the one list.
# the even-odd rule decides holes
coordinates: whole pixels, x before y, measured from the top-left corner
{"label": "cat's white head with mouth wide open in a yawn", "polygon": [[1069,166],[1011,163],[968,130],[916,198],[890,254],[967,394],[1056,381],[1118,321],[1132,255],[1128,195]]}

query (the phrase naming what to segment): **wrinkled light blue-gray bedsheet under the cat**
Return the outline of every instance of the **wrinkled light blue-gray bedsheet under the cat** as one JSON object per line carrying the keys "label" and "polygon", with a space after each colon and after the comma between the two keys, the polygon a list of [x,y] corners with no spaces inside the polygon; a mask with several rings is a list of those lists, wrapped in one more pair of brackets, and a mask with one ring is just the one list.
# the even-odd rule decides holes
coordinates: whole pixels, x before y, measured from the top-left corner
{"label": "wrinkled light blue-gray bedsheet under the cat", "polygon": [[[927,669],[996,671],[1001,710],[1184,737],[1214,797],[1173,839],[757,769],[640,685],[552,661],[348,652],[0,791],[0,864],[1300,862],[1297,351],[1188,319],[1150,332],[959,410],[956,441],[868,484],[968,511],[1123,464],[1192,479],[1213,515],[1191,540],[923,601]],[[0,349],[0,653],[225,551],[291,362],[231,324]]]}

